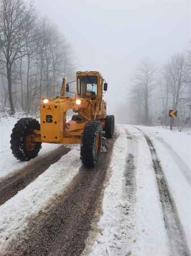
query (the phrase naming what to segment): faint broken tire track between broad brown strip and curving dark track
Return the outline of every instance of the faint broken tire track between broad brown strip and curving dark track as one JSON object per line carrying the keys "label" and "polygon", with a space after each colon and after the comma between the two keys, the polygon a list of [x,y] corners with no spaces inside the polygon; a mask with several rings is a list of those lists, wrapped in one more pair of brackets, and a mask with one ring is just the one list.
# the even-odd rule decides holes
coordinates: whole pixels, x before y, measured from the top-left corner
{"label": "faint broken tire track between broad brown strip and curving dark track", "polygon": [[124,129],[128,141],[128,150],[126,152],[126,164],[123,173],[122,182],[122,200],[120,201],[120,222],[118,234],[114,235],[118,242],[118,247],[112,247],[111,255],[131,255],[131,245],[136,241],[135,235],[135,205],[136,205],[136,167],[137,161],[137,139],[131,135],[128,129]]}

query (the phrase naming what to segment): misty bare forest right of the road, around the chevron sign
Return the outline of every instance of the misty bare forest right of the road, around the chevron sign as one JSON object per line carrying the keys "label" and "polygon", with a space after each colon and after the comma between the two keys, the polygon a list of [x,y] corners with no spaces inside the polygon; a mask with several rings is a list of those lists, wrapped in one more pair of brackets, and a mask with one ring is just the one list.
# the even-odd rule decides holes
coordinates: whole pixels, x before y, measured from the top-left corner
{"label": "misty bare forest right of the road, around the chevron sign", "polygon": [[175,53],[162,67],[143,57],[130,79],[131,123],[168,126],[169,110],[175,109],[174,125],[191,126],[191,51]]}

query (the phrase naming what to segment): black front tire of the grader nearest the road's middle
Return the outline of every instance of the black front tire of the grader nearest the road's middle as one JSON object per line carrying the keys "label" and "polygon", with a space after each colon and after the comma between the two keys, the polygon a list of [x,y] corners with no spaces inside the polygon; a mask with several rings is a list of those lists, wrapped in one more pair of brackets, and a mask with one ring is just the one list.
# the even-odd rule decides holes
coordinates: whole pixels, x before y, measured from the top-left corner
{"label": "black front tire of the grader nearest the road's middle", "polygon": [[102,128],[100,122],[86,123],[82,134],[80,155],[84,166],[95,167],[99,162],[102,141]]}

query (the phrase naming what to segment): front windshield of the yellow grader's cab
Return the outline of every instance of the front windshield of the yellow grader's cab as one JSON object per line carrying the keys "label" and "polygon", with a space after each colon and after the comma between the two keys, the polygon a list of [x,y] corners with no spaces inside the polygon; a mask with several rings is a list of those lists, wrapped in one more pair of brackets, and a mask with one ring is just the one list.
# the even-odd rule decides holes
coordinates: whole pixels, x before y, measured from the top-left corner
{"label": "front windshield of the yellow grader's cab", "polygon": [[82,97],[97,95],[97,76],[78,77],[78,95]]}

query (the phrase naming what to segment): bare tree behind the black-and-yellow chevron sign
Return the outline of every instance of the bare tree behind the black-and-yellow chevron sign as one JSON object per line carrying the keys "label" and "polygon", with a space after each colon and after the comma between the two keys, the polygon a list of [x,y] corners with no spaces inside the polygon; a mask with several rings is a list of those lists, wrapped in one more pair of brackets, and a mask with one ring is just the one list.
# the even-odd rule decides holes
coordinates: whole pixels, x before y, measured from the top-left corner
{"label": "bare tree behind the black-and-yellow chevron sign", "polygon": [[[188,120],[190,102],[190,67],[189,53],[186,61],[184,53],[173,55],[165,64],[162,72],[163,119],[167,125],[168,109],[179,110],[179,125],[182,127]],[[178,120],[179,120],[178,119]],[[172,128],[173,119],[171,119]],[[178,122],[176,121],[178,124]]]}

